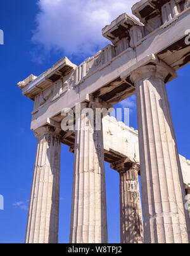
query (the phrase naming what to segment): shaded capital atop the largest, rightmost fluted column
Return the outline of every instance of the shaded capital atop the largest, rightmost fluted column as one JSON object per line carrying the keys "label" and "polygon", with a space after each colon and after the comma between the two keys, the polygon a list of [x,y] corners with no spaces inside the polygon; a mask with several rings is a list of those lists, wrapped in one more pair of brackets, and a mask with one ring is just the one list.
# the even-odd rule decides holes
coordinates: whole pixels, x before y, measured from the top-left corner
{"label": "shaded capital atop the largest, rightmost fluted column", "polygon": [[168,83],[177,77],[177,72],[161,60],[155,60],[132,71],[130,79],[137,84],[142,79],[157,78]]}

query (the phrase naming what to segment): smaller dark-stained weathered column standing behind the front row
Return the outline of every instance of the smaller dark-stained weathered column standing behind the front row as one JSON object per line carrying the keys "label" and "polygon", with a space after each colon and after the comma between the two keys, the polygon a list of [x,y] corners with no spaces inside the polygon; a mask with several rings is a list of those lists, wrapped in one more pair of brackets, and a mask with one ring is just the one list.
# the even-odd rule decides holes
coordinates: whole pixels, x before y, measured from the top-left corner
{"label": "smaller dark-stained weathered column standing behind the front row", "polygon": [[139,189],[139,166],[118,161],[111,164],[120,175],[121,243],[143,243],[143,216]]}

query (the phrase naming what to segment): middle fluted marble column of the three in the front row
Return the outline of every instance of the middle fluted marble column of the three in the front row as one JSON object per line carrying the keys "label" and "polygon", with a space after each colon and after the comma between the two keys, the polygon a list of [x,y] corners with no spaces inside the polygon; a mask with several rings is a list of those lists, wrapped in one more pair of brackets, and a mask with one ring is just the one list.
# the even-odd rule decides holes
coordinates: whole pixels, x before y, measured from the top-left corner
{"label": "middle fluted marble column of the three in the front row", "polygon": [[103,128],[96,130],[95,108],[84,107],[76,121],[70,243],[107,243]]}

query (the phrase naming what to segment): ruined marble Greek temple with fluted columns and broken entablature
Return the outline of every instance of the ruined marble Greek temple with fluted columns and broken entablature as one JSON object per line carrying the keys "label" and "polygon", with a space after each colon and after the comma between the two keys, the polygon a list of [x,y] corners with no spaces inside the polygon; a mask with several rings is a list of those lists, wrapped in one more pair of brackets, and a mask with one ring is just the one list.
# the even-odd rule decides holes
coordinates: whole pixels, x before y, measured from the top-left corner
{"label": "ruined marble Greek temple with fluted columns and broken entablature", "polygon": [[[34,101],[37,138],[25,243],[58,243],[61,143],[75,154],[70,243],[108,243],[104,161],[120,175],[121,243],[190,242],[190,161],[179,155],[166,90],[190,62],[190,1],[141,0],[132,13],[138,20],[123,13],[103,28],[111,44],[94,57],[79,66],[62,58],[18,83]],[[97,128],[97,109],[135,93],[138,131],[103,113]],[[64,109],[73,130],[61,126]]]}

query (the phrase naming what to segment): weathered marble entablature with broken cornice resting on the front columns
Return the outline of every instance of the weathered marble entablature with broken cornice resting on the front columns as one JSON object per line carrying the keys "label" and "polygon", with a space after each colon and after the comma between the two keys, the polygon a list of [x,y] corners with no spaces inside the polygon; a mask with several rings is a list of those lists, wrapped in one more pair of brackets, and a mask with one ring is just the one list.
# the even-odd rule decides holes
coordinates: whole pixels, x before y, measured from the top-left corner
{"label": "weathered marble entablature with broken cornice resting on the front columns", "polygon": [[111,105],[134,94],[130,73],[152,62],[153,56],[175,70],[189,63],[190,46],[184,41],[189,1],[140,1],[132,11],[143,24],[127,13],[120,15],[103,29],[113,45],[79,67],[65,57],[40,76],[18,83],[23,95],[35,101],[32,130],[46,125],[47,118],[57,121],[64,107],[84,102],[87,94]]}

